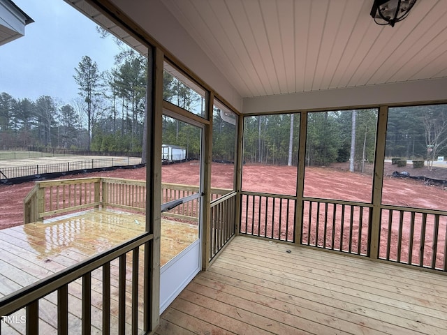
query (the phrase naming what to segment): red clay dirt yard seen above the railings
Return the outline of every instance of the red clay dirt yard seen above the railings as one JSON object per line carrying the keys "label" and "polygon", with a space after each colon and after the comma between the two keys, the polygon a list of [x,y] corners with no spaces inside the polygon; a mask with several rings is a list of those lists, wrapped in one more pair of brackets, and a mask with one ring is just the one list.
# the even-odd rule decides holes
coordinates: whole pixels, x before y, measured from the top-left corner
{"label": "red clay dirt yard seen above the railings", "polygon": [[[440,186],[427,186],[423,181],[391,177],[396,165],[386,163],[384,171],[383,203],[430,209],[446,209],[446,190]],[[344,170],[346,165],[335,168],[306,168],[305,195],[312,197],[356,200],[369,202],[372,178],[367,174],[352,173]],[[198,165],[190,162],[163,165],[163,182],[177,184],[196,184]],[[400,169],[402,170],[402,169]],[[424,174],[426,177],[447,179],[447,168],[429,172],[424,168],[412,174]],[[400,171],[402,172],[402,171]],[[242,187],[250,185],[249,191],[266,193],[295,194],[295,168],[277,165],[244,165]],[[212,187],[230,188],[233,165],[213,163]],[[65,176],[67,178],[117,177],[145,180],[145,168],[118,169],[105,172],[92,172]],[[191,182],[192,177],[192,182]],[[23,200],[33,188],[34,182],[0,185],[0,229],[23,224]],[[393,191],[394,190],[394,191]],[[398,194],[398,195],[397,195]]]}

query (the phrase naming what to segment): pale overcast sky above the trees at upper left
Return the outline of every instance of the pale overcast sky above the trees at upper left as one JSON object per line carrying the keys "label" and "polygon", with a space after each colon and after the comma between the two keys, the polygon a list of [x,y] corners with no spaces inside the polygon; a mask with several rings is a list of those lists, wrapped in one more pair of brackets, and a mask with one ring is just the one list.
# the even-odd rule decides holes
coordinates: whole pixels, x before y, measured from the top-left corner
{"label": "pale overcast sky above the trees at upper left", "polygon": [[119,52],[111,36],[102,39],[96,24],[62,0],[13,0],[34,23],[25,36],[0,46],[0,93],[35,101],[47,95],[71,103],[78,96],[73,79],[82,56],[100,71]]}

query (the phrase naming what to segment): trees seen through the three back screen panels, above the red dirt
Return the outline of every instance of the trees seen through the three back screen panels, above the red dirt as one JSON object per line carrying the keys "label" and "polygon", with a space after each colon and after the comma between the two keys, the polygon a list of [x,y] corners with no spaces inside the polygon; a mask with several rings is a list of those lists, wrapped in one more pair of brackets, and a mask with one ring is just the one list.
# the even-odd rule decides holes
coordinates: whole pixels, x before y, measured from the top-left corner
{"label": "trees seen through the three back screen panels, above the red dirt", "polygon": [[[350,162],[351,171],[374,161],[377,110],[307,113],[306,165]],[[297,165],[299,114],[244,118],[244,161]],[[447,106],[392,107],[388,112],[388,158],[425,160],[431,169],[438,156],[447,156]],[[447,158],[447,157],[446,157]]]}

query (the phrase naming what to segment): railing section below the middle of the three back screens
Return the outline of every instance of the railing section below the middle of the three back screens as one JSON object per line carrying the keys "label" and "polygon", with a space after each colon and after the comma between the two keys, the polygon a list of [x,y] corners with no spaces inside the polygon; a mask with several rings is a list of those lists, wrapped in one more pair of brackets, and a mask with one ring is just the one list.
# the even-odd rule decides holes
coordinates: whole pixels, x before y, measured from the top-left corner
{"label": "railing section below the middle of the three back screens", "polygon": [[369,255],[372,211],[365,204],[304,200],[301,244]]}

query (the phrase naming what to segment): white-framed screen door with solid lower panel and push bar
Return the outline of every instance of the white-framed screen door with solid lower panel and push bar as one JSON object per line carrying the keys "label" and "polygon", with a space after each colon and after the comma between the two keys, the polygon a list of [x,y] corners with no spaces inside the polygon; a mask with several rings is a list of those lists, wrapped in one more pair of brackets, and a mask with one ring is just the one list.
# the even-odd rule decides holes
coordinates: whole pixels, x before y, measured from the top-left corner
{"label": "white-framed screen door with solid lower panel and push bar", "polygon": [[201,268],[203,126],[165,111],[162,134],[161,313]]}

